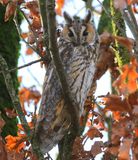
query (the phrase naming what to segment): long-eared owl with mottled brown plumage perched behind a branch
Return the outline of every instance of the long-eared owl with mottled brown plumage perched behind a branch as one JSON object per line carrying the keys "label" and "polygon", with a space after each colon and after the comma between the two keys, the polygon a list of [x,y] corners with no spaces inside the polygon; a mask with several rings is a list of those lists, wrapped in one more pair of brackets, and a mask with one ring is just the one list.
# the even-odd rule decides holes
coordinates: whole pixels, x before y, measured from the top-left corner
{"label": "long-eared owl with mottled brown plumage perched behind a branch", "polygon": [[[78,119],[83,114],[99,57],[99,39],[91,23],[91,12],[84,19],[64,12],[65,26],[58,40],[59,55]],[[70,106],[72,107],[72,106]],[[46,69],[36,134],[43,153],[63,138],[71,124],[61,83],[53,62]]]}

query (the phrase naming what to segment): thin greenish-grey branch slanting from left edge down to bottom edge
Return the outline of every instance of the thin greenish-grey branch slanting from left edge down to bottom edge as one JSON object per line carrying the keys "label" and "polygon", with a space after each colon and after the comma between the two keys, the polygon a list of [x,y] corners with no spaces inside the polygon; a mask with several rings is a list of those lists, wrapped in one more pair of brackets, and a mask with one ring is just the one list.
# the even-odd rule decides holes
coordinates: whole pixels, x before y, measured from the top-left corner
{"label": "thin greenish-grey branch slanting from left edge down to bottom edge", "polygon": [[27,123],[27,120],[26,120],[25,115],[24,115],[24,113],[22,111],[22,108],[21,108],[19,98],[16,95],[15,89],[13,87],[12,78],[11,78],[11,75],[9,73],[8,65],[7,65],[5,59],[1,56],[1,54],[0,54],[0,70],[3,74],[3,76],[4,76],[7,90],[10,94],[10,97],[11,97],[12,103],[14,105],[14,108],[18,113],[19,119],[20,119],[21,124],[24,128],[24,131],[27,135],[27,138],[30,142],[32,142],[31,144],[32,144],[33,151],[37,155],[39,160],[44,160],[43,155],[41,154],[40,149],[38,148],[37,141],[35,141],[35,140],[32,141],[31,129],[30,129],[28,123]]}

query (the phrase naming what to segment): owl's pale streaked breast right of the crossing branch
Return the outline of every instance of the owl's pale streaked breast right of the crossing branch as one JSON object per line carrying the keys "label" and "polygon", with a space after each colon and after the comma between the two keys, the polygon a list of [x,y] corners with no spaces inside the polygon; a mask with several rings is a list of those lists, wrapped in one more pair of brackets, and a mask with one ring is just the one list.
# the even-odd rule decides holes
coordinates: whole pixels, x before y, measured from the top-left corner
{"label": "owl's pale streaked breast right of the crossing branch", "polygon": [[60,48],[59,51],[73,103],[81,114],[95,73],[93,50],[85,46],[70,46],[68,49]]}

